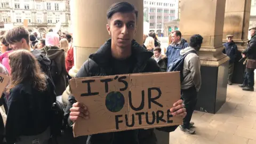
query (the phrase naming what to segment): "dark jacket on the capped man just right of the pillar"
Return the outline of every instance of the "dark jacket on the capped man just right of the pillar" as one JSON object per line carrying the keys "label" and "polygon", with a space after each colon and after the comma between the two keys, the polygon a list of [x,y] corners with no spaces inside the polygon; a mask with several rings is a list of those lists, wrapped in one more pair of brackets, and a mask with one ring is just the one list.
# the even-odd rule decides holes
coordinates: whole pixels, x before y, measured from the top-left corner
{"label": "dark jacket on the capped man just right of the pillar", "polygon": [[234,41],[227,42],[223,44],[225,46],[225,49],[222,51],[224,54],[227,54],[230,58],[229,63],[234,63],[237,55],[237,46]]}

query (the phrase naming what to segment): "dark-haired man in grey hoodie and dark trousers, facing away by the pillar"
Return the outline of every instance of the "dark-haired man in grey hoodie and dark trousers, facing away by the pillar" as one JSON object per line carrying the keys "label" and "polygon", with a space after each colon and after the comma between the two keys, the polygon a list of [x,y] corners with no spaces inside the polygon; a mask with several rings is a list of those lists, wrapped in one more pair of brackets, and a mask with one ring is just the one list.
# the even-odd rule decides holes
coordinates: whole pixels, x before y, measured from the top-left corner
{"label": "dark-haired man in grey hoodie and dark trousers, facing away by the pillar", "polygon": [[203,37],[201,35],[193,35],[190,38],[190,46],[180,51],[180,55],[188,53],[184,59],[182,72],[184,80],[181,83],[181,98],[184,101],[187,115],[183,119],[183,125],[180,125],[180,129],[188,134],[195,133],[194,130],[190,129],[194,125],[193,122],[190,123],[190,120],[196,107],[197,93],[201,87],[201,65],[197,52],[200,50],[202,43]]}

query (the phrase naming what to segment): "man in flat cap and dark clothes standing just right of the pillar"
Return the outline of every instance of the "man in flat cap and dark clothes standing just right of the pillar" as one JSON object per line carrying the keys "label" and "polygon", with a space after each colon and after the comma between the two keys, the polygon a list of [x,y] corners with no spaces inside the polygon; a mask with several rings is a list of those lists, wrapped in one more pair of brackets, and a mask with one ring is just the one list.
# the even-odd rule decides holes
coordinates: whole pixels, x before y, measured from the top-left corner
{"label": "man in flat cap and dark clothes standing just right of the pillar", "polygon": [[234,62],[237,54],[237,45],[233,41],[233,35],[227,35],[227,42],[223,44],[225,49],[222,51],[224,54],[227,54],[229,57],[229,67],[228,67],[228,84],[232,85],[232,77],[234,71]]}

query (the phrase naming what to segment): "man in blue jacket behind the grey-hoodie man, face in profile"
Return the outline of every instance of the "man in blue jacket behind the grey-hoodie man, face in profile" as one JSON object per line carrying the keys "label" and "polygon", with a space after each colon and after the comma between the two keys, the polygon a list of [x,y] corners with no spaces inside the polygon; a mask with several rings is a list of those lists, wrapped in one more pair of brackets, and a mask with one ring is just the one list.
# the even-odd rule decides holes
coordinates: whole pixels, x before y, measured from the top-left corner
{"label": "man in blue jacket behind the grey-hoodie man, face in profile", "polygon": [[175,30],[171,34],[172,43],[167,47],[166,57],[167,57],[167,71],[173,64],[174,60],[180,57],[180,50],[188,47],[188,43],[185,39],[181,38],[181,32]]}

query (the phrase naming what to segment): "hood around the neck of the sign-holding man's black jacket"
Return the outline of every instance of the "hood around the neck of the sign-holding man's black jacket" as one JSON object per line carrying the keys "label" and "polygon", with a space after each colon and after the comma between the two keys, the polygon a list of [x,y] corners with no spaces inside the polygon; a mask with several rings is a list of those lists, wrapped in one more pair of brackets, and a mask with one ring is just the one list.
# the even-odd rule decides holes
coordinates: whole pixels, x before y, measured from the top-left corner
{"label": "hood around the neck of the sign-holding man's black jacket", "polygon": [[[134,39],[132,40],[132,55],[135,59],[137,59],[137,68],[141,68],[143,64],[146,65],[148,59],[153,56],[153,52],[145,50],[142,46],[140,46]],[[103,68],[109,67],[109,60],[111,58],[111,39],[103,44],[97,52],[91,54],[89,56],[90,59],[95,61],[99,66]],[[134,69],[135,70],[135,69]],[[137,70],[137,69],[136,69]]]}

